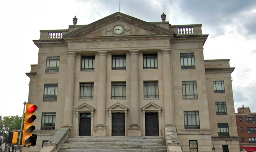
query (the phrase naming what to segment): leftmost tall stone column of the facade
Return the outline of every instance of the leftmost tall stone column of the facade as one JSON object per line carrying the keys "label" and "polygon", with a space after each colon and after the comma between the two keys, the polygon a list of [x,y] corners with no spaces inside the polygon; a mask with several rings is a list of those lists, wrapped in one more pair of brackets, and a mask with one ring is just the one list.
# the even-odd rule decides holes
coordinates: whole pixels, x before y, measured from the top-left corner
{"label": "leftmost tall stone column of the facade", "polygon": [[73,103],[74,103],[74,86],[75,86],[75,60],[76,52],[68,52],[68,66],[66,75],[66,94],[64,108],[63,127],[70,128],[73,132]]}

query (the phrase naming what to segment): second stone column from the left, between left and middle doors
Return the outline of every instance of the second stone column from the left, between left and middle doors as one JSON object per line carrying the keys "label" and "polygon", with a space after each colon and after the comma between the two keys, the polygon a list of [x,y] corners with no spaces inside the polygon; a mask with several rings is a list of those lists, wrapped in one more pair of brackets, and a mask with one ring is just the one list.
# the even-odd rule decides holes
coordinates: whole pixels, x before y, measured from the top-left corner
{"label": "second stone column from the left, between left and middle doors", "polygon": [[97,96],[97,125],[95,136],[106,136],[106,80],[107,80],[107,51],[99,53],[98,96]]}

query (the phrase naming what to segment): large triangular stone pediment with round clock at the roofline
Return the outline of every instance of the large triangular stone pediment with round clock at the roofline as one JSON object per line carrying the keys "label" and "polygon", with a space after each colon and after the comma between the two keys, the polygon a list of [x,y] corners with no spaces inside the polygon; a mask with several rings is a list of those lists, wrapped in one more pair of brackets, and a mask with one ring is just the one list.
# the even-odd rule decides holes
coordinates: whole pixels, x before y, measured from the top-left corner
{"label": "large triangular stone pediment with round clock at the roofline", "polygon": [[[118,32],[114,32],[115,26]],[[121,31],[121,30],[122,31]],[[104,37],[104,36],[135,36],[135,35],[173,35],[175,32],[145,22],[132,16],[116,12],[75,31],[63,35],[63,38]]]}

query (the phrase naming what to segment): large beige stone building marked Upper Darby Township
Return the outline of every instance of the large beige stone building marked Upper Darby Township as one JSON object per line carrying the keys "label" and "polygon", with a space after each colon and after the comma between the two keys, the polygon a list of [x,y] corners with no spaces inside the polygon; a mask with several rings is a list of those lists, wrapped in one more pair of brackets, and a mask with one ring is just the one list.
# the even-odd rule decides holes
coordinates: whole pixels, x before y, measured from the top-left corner
{"label": "large beige stone building marked Upper Darby Township", "polygon": [[[27,150],[40,151],[43,143],[58,150],[69,135],[155,137],[164,139],[165,151],[239,152],[235,68],[228,59],[204,60],[208,35],[201,24],[171,25],[165,16],[145,22],[117,12],[88,25],[76,25],[75,17],[68,29],[41,30],[34,40],[38,64],[26,73],[28,101],[39,107],[37,146]],[[69,134],[55,141],[62,128]]]}

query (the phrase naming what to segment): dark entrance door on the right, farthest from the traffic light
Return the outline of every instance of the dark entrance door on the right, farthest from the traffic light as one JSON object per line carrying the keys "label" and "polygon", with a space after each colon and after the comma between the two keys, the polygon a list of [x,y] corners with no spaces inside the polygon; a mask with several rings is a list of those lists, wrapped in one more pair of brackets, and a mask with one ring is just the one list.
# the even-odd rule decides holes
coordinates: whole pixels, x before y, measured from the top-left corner
{"label": "dark entrance door on the right, farthest from the traffic light", "polygon": [[146,136],[159,136],[158,113],[145,113]]}

